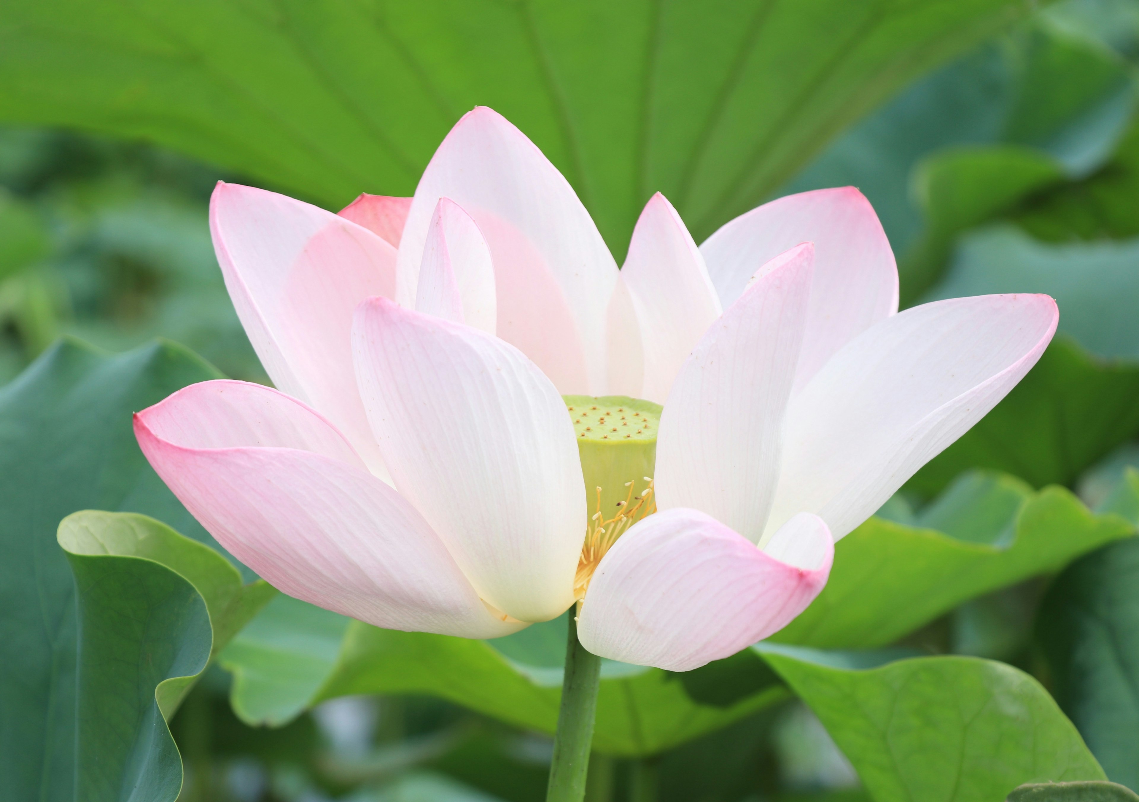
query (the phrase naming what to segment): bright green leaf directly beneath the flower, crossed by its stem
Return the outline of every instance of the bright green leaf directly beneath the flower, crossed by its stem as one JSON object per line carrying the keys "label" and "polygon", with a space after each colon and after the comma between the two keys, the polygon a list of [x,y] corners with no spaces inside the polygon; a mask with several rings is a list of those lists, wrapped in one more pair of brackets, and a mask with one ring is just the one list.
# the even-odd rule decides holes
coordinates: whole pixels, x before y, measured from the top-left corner
{"label": "bright green leaf directly beneath the flower, crossed by its stem", "polygon": [[[281,597],[233,639],[220,662],[235,673],[231,702],[248,723],[281,725],[335,696],[427,694],[552,733],[565,627],[562,616],[508,638],[466,640],[378,629]],[[595,747],[654,754],[785,698],[776,678],[751,663],[710,677],[716,687],[708,690],[698,686],[698,672],[678,677],[606,661]]]}

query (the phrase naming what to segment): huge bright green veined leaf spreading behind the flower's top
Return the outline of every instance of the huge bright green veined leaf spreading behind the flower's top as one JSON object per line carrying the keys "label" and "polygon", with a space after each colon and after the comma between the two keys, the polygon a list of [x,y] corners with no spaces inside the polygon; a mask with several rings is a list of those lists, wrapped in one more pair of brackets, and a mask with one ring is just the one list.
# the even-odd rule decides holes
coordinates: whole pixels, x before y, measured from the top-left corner
{"label": "huge bright green veined leaf spreading behind the flower's top", "polygon": [[0,116],[145,137],[336,205],[410,194],[450,125],[485,104],[623,251],[653,190],[706,236],[1025,8],[14,0],[0,10]]}

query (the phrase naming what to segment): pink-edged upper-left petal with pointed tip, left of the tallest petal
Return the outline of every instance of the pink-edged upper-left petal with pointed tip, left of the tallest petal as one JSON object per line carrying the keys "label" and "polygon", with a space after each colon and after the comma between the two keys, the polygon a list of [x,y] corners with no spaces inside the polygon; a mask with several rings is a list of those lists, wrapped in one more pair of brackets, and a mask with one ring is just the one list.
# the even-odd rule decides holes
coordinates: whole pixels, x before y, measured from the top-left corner
{"label": "pink-edged upper-left petal with pointed tip, left of the tallest petal", "polygon": [[219,182],[210,228],[226,287],[273,384],[327,416],[385,475],[352,368],[352,312],[395,289],[395,249],[355,223]]}

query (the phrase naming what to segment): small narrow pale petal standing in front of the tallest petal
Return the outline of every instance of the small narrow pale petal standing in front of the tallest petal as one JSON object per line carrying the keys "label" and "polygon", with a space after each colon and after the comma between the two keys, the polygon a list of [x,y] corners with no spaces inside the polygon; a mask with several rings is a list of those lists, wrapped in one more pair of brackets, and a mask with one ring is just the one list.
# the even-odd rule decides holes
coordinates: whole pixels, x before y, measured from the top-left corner
{"label": "small narrow pale petal standing in front of the tallest petal", "polygon": [[494,334],[494,267],[475,221],[440,198],[419,267],[416,309]]}

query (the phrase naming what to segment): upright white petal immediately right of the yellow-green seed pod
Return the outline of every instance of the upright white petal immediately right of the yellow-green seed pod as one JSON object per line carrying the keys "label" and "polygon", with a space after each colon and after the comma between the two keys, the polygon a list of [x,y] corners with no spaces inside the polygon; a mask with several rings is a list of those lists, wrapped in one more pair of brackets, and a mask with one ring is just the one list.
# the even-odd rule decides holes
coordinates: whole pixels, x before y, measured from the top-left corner
{"label": "upright white petal immediately right of the yellow-green seed pod", "polygon": [[806,244],[764,265],[685,362],[657,436],[662,509],[694,507],[752,542],[763,534],[806,325],[811,262]]}

